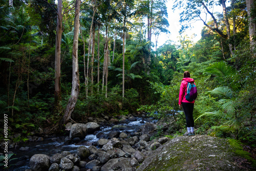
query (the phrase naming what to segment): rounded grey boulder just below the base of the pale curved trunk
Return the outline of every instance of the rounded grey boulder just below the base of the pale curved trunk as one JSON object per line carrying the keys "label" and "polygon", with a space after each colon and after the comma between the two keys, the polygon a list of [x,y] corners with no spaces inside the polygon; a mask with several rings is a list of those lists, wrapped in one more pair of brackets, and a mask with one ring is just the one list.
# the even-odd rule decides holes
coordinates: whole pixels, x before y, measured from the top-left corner
{"label": "rounded grey boulder just below the base of the pale curved trunk", "polygon": [[70,135],[69,137],[71,139],[75,137],[79,137],[81,139],[84,139],[87,135],[87,127],[86,124],[83,123],[75,123],[72,125],[71,130],[70,130]]}

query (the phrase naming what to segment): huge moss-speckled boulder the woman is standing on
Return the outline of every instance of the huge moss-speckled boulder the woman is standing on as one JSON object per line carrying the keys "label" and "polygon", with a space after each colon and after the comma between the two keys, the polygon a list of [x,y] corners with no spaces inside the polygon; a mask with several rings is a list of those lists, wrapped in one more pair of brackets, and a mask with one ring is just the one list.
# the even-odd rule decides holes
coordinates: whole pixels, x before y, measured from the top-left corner
{"label": "huge moss-speckled boulder the woman is standing on", "polygon": [[181,136],[157,148],[137,170],[241,170],[234,162],[237,150],[237,144],[230,145],[228,139]]}

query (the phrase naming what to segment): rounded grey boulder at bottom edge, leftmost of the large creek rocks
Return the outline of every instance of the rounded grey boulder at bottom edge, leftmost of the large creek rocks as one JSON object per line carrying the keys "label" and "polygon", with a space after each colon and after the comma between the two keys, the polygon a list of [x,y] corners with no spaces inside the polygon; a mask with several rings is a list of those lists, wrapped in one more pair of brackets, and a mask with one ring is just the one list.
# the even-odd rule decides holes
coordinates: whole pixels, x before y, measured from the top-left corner
{"label": "rounded grey boulder at bottom edge, leftmost of the large creek rocks", "polygon": [[29,166],[35,171],[49,170],[50,168],[50,157],[45,154],[35,154],[30,158]]}

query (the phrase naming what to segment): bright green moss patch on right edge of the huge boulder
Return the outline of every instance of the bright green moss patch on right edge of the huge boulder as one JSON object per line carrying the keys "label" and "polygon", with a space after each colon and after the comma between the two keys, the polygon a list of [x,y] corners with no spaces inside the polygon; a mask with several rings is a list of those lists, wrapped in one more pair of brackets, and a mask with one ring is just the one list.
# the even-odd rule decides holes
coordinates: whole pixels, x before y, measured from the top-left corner
{"label": "bright green moss patch on right edge of the huge boulder", "polygon": [[229,142],[230,146],[233,148],[233,152],[237,156],[247,159],[249,162],[252,163],[252,167],[256,167],[256,160],[254,160],[253,158],[250,157],[250,155],[251,155],[250,153],[243,150],[242,142],[239,142],[238,140],[234,140],[234,139],[229,139],[228,142]]}

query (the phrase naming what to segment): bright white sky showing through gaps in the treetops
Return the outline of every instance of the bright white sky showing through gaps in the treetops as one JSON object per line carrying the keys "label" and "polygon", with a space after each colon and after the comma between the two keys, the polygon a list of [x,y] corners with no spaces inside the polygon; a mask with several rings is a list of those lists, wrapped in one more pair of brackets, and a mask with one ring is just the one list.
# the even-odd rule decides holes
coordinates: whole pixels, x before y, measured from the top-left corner
{"label": "bright white sky showing through gaps in the treetops", "polygon": [[[173,3],[174,3],[174,0],[168,0],[166,3],[167,12],[168,12],[168,22],[169,22],[168,30],[170,31],[170,34],[167,34],[167,35],[161,34],[159,36],[158,47],[163,45],[166,40],[172,40],[174,43],[178,44],[178,40],[179,40],[178,36],[180,36],[179,30],[181,28],[181,24],[179,23],[179,20],[180,20],[179,13],[181,11],[179,11],[178,9],[173,11],[172,10]],[[226,4],[226,6],[228,6],[228,4]],[[221,6],[215,7],[214,12],[217,12],[217,11],[222,12],[222,7]],[[208,16],[207,20],[210,20],[210,19],[211,17]],[[201,30],[204,27],[203,22],[198,20],[193,22],[191,26],[194,28],[187,29],[184,34],[187,34],[188,37],[193,37],[193,34],[195,34],[196,36],[193,37],[192,40],[194,42],[197,42],[201,38]]]}

